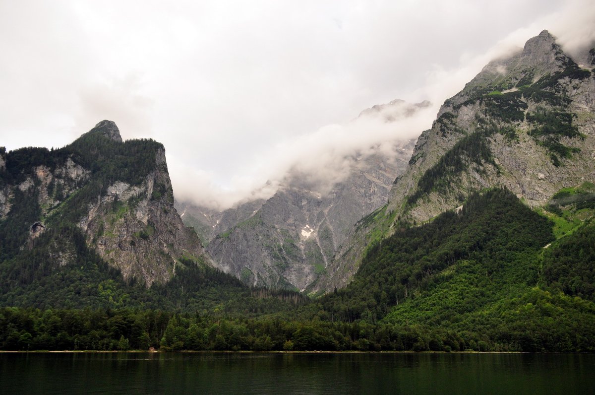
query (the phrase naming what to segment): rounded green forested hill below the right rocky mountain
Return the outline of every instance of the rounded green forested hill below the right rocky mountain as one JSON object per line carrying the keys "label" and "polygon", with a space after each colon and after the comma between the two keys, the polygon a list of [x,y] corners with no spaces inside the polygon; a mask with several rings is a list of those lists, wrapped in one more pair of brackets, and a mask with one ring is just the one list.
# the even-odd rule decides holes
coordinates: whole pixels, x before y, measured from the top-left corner
{"label": "rounded green forested hill below the right rocky mountain", "polygon": [[511,191],[474,193],[372,244],[352,281],[308,312],[373,324],[364,350],[591,352],[594,203],[569,207],[591,219],[556,240],[556,223]]}

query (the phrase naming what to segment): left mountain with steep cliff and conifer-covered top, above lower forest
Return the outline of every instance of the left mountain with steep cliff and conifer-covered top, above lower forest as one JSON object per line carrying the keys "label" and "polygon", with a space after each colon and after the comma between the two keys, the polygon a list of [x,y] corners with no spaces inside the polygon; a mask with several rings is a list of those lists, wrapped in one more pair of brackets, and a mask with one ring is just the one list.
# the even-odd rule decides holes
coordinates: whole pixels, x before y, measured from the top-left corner
{"label": "left mountain with steep cliff and conifer-covered top, above lower forest", "polygon": [[[96,268],[104,275],[117,269],[127,282],[149,286],[167,283],[182,258],[212,262],[173,207],[165,150],[156,141],[123,142],[106,120],[64,148],[21,148],[2,159],[0,270],[7,292],[48,281],[58,268],[77,267],[92,282]],[[70,286],[56,280],[56,288]]]}

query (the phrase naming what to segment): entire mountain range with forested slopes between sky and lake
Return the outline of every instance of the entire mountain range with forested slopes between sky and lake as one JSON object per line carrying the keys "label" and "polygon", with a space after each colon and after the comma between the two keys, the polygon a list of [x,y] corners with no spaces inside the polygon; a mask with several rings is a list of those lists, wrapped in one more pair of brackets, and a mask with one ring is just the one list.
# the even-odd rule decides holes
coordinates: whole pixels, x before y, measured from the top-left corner
{"label": "entire mountain range with forested slopes between sky and lake", "polygon": [[[221,226],[209,249],[240,257],[231,273],[317,298],[195,255],[154,141],[100,123],[60,150],[2,149],[0,349],[594,352],[594,55],[577,64],[544,31],[488,64],[394,182],[402,157],[373,147],[326,190],[293,169],[267,201],[184,207]],[[175,259],[167,282],[124,279],[137,246]]]}

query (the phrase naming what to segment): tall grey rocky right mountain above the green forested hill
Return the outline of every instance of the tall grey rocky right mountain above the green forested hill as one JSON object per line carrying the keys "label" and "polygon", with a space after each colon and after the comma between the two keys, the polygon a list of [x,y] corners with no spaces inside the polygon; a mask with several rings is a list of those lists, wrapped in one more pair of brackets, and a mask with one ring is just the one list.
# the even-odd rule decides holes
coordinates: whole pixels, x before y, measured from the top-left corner
{"label": "tall grey rocky right mountain above the green forested hill", "polygon": [[536,207],[561,188],[593,182],[595,50],[589,54],[581,56],[591,62],[582,69],[544,30],[447,99],[419,136],[386,208],[337,253],[340,266],[324,290],[349,281],[378,234],[453,210],[474,191],[505,186]]}

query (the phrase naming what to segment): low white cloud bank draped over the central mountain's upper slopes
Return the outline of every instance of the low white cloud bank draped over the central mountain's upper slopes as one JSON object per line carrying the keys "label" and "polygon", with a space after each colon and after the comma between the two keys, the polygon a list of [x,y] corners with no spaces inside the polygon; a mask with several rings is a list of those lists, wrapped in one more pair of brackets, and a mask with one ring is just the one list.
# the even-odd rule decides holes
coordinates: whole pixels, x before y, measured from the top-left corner
{"label": "low white cloud bank draped over the central mountain's upper slopes", "polygon": [[362,111],[343,125],[327,125],[287,139],[255,155],[245,169],[238,169],[230,189],[218,186],[208,172],[168,159],[176,198],[223,210],[246,200],[269,198],[296,174],[325,193],[345,179],[362,157],[375,154],[393,160],[394,150],[430,127],[437,111],[438,106],[427,101],[395,100]]}

